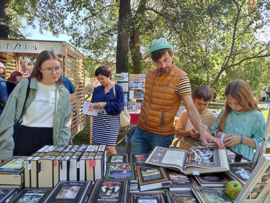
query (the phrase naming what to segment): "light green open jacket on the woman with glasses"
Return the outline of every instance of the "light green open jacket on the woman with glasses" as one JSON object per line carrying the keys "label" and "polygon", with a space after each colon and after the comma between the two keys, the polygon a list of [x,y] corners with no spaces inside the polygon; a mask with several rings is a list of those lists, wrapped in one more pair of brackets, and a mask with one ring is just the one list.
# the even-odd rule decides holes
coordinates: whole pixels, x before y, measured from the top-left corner
{"label": "light green open jacket on the woman with glasses", "polygon": [[[23,79],[12,91],[0,117],[0,160],[12,157],[13,125],[20,118],[26,96],[28,79]],[[25,103],[22,115],[32,103],[37,92],[37,79],[31,78],[29,97]],[[40,115],[42,116],[42,115]],[[71,104],[67,89],[56,83],[56,99],[53,120],[53,145],[68,144],[71,124]]]}

